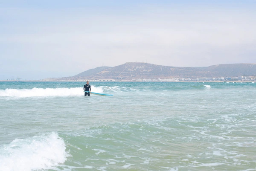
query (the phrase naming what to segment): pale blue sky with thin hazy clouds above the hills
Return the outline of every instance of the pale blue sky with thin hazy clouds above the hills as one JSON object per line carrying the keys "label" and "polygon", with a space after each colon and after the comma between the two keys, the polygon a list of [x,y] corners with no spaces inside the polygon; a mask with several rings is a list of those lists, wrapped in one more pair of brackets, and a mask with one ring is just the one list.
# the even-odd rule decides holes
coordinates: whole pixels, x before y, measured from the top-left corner
{"label": "pale blue sky with thin hazy clouds above the hills", "polygon": [[256,0],[0,0],[0,80],[256,63]]}

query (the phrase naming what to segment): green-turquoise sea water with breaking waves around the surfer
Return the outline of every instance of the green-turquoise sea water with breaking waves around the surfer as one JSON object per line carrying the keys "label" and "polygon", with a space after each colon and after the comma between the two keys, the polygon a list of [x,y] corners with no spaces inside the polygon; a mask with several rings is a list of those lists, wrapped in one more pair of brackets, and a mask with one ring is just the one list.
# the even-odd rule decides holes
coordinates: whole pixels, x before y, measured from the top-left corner
{"label": "green-turquoise sea water with breaking waves around the surfer", "polygon": [[256,171],[254,82],[0,82],[0,171]]}

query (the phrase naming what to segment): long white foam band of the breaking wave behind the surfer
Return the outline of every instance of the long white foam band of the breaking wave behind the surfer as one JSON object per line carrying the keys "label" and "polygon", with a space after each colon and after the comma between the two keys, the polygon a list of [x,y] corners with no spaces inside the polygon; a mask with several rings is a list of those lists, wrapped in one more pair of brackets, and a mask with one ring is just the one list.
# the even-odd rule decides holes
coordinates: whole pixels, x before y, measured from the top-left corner
{"label": "long white foam band of the breaking wave behind the surfer", "polygon": [[[102,93],[102,87],[93,87],[95,93]],[[32,88],[32,89],[6,89],[0,90],[0,97],[42,97],[42,96],[82,96],[83,87],[76,88]]]}

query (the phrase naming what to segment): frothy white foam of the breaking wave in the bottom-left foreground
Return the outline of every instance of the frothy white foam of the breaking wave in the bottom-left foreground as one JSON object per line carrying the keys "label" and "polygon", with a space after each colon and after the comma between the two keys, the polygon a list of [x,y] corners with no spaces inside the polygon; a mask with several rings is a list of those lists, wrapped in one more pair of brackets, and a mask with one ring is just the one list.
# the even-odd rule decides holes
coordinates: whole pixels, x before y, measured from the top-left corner
{"label": "frothy white foam of the breaking wave in the bottom-left foreground", "polygon": [[57,133],[45,133],[27,139],[15,139],[0,146],[0,171],[50,169],[68,157],[64,140]]}

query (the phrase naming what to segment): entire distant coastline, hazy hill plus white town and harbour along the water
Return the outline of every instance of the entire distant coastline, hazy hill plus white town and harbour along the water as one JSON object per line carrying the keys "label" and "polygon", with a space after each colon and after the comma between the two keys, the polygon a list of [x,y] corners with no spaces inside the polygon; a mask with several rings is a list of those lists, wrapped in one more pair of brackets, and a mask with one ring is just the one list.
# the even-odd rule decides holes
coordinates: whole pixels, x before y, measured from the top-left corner
{"label": "entire distant coastline, hazy hill plus white town and harbour along the water", "polygon": [[128,62],[116,67],[96,67],[74,76],[0,81],[115,81],[115,82],[250,82],[256,80],[256,64],[218,64],[209,67],[170,67]]}

